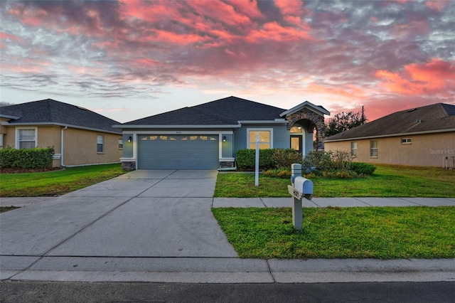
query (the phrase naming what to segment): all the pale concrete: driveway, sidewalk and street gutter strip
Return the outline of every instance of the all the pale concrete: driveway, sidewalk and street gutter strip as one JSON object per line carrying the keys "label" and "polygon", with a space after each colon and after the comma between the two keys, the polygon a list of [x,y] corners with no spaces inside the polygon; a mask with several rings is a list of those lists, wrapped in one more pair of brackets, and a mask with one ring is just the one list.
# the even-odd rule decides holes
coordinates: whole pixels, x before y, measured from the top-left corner
{"label": "all the pale concrete: driveway, sidewalk and street gutter strip", "polygon": [[[455,259],[240,259],[211,213],[291,207],[213,198],[217,171],[132,171],[63,196],[1,198],[0,279],[65,282],[454,282]],[[313,198],[304,207],[455,206],[455,198]]]}

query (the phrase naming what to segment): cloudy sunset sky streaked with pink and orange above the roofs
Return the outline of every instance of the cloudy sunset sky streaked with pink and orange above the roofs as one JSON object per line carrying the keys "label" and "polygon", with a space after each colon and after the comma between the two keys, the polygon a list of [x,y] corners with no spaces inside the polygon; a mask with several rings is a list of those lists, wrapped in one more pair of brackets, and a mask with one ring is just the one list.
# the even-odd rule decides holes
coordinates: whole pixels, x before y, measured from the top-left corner
{"label": "cloudy sunset sky streaked with pink and orange above the roofs", "polygon": [[455,1],[0,1],[0,94],[128,122],[234,95],[455,105]]}

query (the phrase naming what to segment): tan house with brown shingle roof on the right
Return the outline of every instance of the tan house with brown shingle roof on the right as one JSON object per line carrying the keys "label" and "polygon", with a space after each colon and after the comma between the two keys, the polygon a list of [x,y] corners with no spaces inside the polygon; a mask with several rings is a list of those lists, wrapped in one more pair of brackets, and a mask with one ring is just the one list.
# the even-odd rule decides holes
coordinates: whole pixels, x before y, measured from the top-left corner
{"label": "tan house with brown shingle roof on the right", "polygon": [[355,161],[454,166],[455,105],[402,110],[327,137],[326,151],[350,151]]}

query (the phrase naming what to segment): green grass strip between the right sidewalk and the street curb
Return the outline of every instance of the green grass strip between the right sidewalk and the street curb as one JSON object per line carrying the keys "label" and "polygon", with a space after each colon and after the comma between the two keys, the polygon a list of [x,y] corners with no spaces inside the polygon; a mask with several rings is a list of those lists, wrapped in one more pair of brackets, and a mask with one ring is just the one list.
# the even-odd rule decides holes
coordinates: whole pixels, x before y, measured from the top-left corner
{"label": "green grass strip between the right sidewalk and the street curb", "polygon": [[213,208],[244,258],[451,258],[454,207],[304,208],[301,231],[291,208]]}

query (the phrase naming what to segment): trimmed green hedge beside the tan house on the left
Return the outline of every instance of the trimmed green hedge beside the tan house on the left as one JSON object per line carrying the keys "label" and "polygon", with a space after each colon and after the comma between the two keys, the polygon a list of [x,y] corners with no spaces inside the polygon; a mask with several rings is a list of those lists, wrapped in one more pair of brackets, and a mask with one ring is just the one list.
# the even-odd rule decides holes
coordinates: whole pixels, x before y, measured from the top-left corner
{"label": "trimmed green hedge beside the tan house on the left", "polygon": [[11,169],[47,169],[52,167],[53,147],[34,149],[0,149],[0,167]]}

